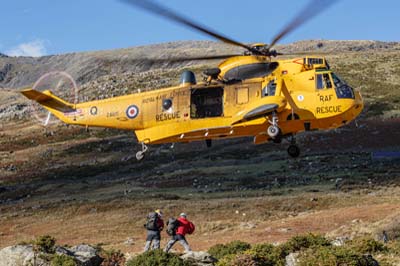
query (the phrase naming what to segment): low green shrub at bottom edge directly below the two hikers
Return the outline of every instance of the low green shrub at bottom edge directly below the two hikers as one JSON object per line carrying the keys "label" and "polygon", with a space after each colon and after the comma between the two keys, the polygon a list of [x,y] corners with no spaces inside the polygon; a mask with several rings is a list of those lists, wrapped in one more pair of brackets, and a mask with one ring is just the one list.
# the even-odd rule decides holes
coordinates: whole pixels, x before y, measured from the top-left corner
{"label": "low green shrub at bottom edge directly below the two hikers", "polygon": [[162,250],[151,250],[129,260],[126,266],[192,266],[189,261],[184,261],[172,253]]}

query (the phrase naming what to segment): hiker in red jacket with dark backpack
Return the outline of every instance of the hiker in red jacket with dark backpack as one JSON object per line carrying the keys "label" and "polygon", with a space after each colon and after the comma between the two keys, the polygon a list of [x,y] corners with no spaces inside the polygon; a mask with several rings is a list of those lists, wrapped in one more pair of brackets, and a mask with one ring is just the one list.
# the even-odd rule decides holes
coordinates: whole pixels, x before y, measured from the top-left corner
{"label": "hiker in red jacket with dark backpack", "polygon": [[178,219],[170,218],[167,222],[167,233],[171,236],[171,240],[168,241],[164,251],[168,252],[176,241],[179,241],[184,247],[185,252],[192,251],[189,243],[186,241],[185,235],[192,234],[194,229],[194,224],[187,219],[186,213],[181,213]]}

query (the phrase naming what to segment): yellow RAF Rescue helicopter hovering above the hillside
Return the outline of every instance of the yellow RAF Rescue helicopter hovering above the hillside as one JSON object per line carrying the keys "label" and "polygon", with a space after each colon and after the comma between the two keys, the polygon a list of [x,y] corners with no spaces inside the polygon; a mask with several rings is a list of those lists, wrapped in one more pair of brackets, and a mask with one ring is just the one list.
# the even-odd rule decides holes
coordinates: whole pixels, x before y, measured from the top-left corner
{"label": "yellow RAF Rescue helicopter hovering above the hillside", "polygon": [[152,0],[125,0],[153,14],[244,48],[243,54],[175,58],[223,61],[204,71],[197,82],[192,71],[180,84],[102,100],[70,103],[50,90],[22,90],[67,124],[133,131],[142,160],[150,144],[205,141],[252,136],[255,144],[289,140],[287,152],[300,155],[295,135],[335,129],[350,123],[363,109],[363,100],[321,56],[272,60],[282,55],[272,47],[289,32],[334,1],[311,1],[270,44],[247,45],[193,22]]}

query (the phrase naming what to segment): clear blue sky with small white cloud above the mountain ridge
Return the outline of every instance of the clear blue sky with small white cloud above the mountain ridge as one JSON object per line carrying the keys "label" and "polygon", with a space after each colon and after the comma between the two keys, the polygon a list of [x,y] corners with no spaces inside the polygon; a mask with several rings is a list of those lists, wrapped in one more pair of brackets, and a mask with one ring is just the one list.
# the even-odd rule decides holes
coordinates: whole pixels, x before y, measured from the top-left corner
{"label": "clear blue sky with small white cloud above the mountain ridge", "polygon": [[[308,0],[158,0],[241,42],[266,42]],[[280,43],[400,39],[400,1],[341,0]],[[177,40],[213,40],[118,0],[13,0],[1,4],[0,52],[40,56]]]}

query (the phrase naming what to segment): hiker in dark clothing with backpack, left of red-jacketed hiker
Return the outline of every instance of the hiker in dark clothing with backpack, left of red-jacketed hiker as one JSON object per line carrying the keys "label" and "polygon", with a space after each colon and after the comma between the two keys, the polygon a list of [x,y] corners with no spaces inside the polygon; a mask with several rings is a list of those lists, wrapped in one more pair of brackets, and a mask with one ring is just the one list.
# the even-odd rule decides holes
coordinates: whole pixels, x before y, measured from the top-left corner
{"label": "hiker in dark clothing with backpack, left of red-jacketed hiker", "polygon": [[[161,210],[155,210],[147,215],[147,222],[144,224],[147,229],[146,245],[144,251],[148,251],[150,246],[152,249],[160,248],[161,234],[164,228],[164,221],[162,220]],[[152,245],[153,244],[153,245]]]}

